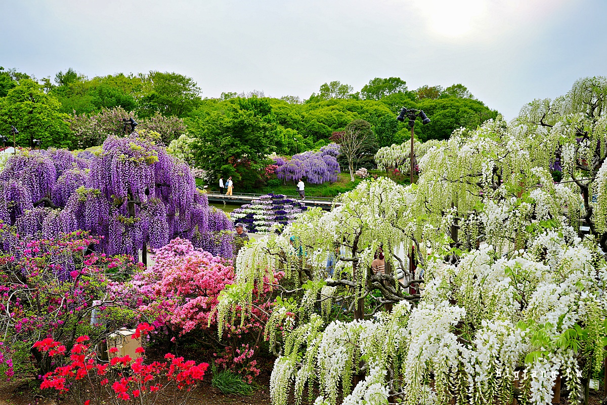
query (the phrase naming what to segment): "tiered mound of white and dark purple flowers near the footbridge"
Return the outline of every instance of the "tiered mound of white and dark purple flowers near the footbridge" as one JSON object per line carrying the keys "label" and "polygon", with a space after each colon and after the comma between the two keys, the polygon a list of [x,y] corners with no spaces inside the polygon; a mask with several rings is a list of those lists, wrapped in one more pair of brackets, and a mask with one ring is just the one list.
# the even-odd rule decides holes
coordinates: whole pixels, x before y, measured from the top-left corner
{"label": "tiered mound of white and dark purple flowers near the footbridge", "polygon": [[[266,194],[230,214],[235,222],[242,222],[252,233],[279,231],[293,222],[297,214],[308,209],[304,203],[287,199],[282,194]],[[279,226],[282,225],[282,226]]]}

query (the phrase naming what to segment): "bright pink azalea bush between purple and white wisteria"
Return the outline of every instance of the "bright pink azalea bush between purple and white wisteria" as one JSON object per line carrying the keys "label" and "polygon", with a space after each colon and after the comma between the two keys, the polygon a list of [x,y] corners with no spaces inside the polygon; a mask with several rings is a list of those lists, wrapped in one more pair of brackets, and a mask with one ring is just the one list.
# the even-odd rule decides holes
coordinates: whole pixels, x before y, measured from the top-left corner
{"label": "bright pink azalea bush between purple and white wisteria", "polygon": [[189,240],[177,238],[158,249],[154,261],[151,270],[134,274],[131,282],[115,288],[122,293],[135,291],[133,297],[145,297],[138,310],[154,319],[156,327],[171,328],[177,335],[174,342],[188,338],[205,342],[218,357],[217,366],[240,373],[249,382],[259,375],[255,355],[268,320],[270,288],[254,291],[252,313],[246,319],[235,319],[223,341],[218,342],[215,307],[219,294],[236,279],[231,260],[212,256],[194,248]]}

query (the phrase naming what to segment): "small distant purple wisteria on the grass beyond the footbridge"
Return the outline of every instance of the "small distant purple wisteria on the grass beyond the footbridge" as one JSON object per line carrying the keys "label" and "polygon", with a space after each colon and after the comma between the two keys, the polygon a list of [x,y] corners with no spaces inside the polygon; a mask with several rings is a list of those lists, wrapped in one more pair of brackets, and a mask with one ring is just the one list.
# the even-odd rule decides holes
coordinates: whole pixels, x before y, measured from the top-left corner
{"label": "small distant purple wisteria on the grass beyond the footbridge", "polygon": [[305,179],[311,184],[336,182],[337,175],[341,173],[337,155],[339,145],[331,143],[320,148],[318,152],[308,151],[293,155],[291,160],[274,158],[274,163],[278,166],[276,177],[287,182],[297,182],[299,179]]}

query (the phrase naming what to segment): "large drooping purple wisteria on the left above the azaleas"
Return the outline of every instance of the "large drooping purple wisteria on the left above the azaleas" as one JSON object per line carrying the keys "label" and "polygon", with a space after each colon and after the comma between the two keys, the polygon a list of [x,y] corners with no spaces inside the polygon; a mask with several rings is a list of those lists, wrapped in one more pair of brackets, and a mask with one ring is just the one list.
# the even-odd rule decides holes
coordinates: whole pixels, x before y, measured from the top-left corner
{"label": "large drooping purple wisteria on the left above the azaleas", "polygon": [[[145,134],[109,137],[100,151],[24,151],[0,172],[0,220],[21,238],[75,230],[101,238],[107,254],[135,254],[189,239],[231,257],[234,226],[209,207],[185,163]],[[5,241],[2,241],[2,246]]]}

